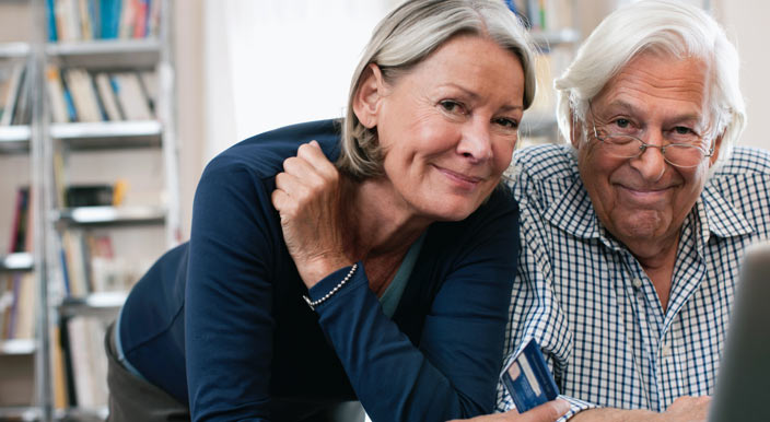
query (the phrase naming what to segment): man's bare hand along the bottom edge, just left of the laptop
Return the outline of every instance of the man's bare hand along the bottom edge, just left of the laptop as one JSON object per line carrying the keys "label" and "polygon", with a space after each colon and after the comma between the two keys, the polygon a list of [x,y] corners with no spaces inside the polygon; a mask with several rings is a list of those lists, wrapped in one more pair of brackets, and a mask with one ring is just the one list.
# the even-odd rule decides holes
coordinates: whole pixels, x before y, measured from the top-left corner
{"label": "man's bare hand along the bottom edge, just left of the laptop", "polygon": [[664,413],[650,410],[591,409],[570,418],[570,422],[704,422],[710,396],[682,396],[674,400]]}

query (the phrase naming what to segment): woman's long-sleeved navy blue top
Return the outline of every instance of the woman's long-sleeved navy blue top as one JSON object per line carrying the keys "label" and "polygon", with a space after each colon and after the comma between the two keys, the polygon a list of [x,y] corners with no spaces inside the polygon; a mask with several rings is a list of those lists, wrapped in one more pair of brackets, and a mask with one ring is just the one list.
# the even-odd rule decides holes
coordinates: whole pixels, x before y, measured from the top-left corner
{"label": "woman's long-sleeved navy blue top", "polygon": [[189,243],[166,253],[124,306],[126,357],[189,403],[192,420],[280,421],[278,399],[358,399],[375,421],[491,412],[518,255],[512,196],[501,186],[464,221],[428,228],[393,318],[363,268],[313,312],[270,201],[283,160],[313,139],[336,160],[338,125],[324,120],[247,139],[209,163]]}

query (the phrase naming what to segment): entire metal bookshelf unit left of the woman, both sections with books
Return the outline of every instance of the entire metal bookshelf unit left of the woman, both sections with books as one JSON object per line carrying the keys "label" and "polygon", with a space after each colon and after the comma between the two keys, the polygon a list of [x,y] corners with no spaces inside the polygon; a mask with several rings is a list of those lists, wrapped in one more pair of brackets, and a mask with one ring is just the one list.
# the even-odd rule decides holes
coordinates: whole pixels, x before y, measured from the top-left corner
{"label": "entire metal bookshelf unit left of the woman, both sections with books", "polygon": [[[104,328],[144,268],[179,242],[172,5],[0,0],[0,202],[9,203],[0,207],[0,327],[11,315],[4,309],[24,309],[30,333],[0,337],[0,421],[103,421]],[[102,36],[103,19],[115,17],[107,8],[121,16],[109,39]],[[3,120],[3,83],[18,78],[16,68],[24,69],[16,91],[25,105]],[[50,89],[54,74],[62,91]],[[24,215],[32,228],[16,250],[9,222],[18,219],[21,187],[28,187]],[[89,188],[112,189],[112,200],[92,202],[103,196],[84,197]],[[80,272],[71,271],[75,261]],[[75,282],[82,289],[70,291]],[[18,285],[27,286],[24,306],[16,306]],[[88,354],[78,356],[84,343]]]}

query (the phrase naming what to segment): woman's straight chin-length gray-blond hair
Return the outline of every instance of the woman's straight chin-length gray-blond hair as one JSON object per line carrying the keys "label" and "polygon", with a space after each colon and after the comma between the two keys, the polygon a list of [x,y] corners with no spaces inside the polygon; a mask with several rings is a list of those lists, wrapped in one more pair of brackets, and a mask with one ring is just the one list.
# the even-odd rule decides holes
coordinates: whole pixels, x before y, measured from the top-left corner
{"label": "woman's straight chin-length gray-blond hair", "polygon": [[366,67],[380,67],[387,83],[409,73],[439,46],[459,34],[489,38],[518,57],[524,69],[524,108],[535,96],[534,44],[501,0],[409,0],[374,28],[350,84],[337,167],[364,179],[383,173],[376,128],[364,127],[353,113],[353,98]]}

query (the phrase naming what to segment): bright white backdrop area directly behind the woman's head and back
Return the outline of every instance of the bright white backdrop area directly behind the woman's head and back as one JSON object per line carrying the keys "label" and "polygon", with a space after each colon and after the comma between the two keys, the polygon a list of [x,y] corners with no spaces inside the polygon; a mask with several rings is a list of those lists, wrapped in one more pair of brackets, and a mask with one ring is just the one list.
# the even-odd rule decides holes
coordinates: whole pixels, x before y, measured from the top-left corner
{"label": "bright white backdrop area directly behind the woman's head and back", "polygon": [[388,0],[207,0],[205,156],[253,134],[341,117]]}

